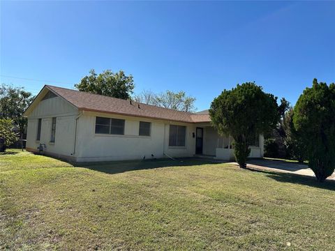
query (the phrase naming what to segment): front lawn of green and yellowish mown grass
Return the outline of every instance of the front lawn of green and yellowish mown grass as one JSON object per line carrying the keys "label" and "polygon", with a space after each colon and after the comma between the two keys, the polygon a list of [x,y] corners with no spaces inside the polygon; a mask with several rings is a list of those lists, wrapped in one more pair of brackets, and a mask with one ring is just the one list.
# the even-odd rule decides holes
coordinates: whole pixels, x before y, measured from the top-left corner
{"label": "front lawn of green and yellowish mown grass", "polygon": [[0,249],[334,250],[335,184],[201,160],[0,155]]}

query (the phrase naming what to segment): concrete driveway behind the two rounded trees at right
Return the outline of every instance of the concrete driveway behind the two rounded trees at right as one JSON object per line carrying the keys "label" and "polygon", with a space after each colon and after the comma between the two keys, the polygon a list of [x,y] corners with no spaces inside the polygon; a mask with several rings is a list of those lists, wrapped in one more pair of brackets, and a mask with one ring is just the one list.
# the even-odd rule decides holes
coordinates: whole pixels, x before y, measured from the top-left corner
{"label": "concrete driveway behind the two rounded trees at right", "polygon": [[[232,162],[231,164],[238,165],[237,162]],[[287,162],[284,160],[248,160],[246,165],[251,169],[260,169],[274,172],[284,172],[289,174],[299,174],[305,176],[315,177],[313,171],[308,168],[307,165],[301,165],[297,162]],[[335,181],[335,172],[332,176],[328,177]]]}

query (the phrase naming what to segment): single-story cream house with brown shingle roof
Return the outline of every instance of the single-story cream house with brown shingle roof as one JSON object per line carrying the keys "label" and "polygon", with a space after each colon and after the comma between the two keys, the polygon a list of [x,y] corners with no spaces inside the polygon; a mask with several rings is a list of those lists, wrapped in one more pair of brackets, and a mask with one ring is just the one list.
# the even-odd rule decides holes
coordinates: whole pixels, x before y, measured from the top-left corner
{"label": "single-story cream house with brown shingle roof", "polygon": [[[231,137],[211,127],[208,111],[193,114],[45,85],[24,116],[27,150],[75,161],[210,156],[232,160]],[[251,158],[263,155],[255,137]]]}

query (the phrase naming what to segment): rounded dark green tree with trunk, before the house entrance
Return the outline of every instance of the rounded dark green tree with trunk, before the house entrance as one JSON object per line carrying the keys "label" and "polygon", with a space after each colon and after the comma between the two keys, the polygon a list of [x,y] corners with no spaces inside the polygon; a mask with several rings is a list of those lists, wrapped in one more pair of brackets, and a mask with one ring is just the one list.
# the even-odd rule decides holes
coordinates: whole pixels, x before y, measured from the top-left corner
{"label": "rounded dark green tree with trunk, before the house entrance", "polygon": [[211,102],[209,115],[221,135],[231,135],[234,139],[234,155],[241,168],[246,168],[251,151],[249,142],[255,135],[275,128],[279,119],[276,98],[264,93],[254,82],[224,90]]}

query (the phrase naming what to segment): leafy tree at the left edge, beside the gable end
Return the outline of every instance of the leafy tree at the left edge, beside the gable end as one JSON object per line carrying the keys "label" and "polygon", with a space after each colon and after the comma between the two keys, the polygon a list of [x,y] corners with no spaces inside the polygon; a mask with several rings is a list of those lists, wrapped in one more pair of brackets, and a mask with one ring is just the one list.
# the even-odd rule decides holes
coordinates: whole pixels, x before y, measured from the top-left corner
{"label": "leafy tree at the left edge, beside the gable end", "polygon": [[13,119],[15,125],[23,133],[27,127],[27,118],[22,116],[34,96],[24,91],[23,87],[2,84],[0,87],[0,119]]}

